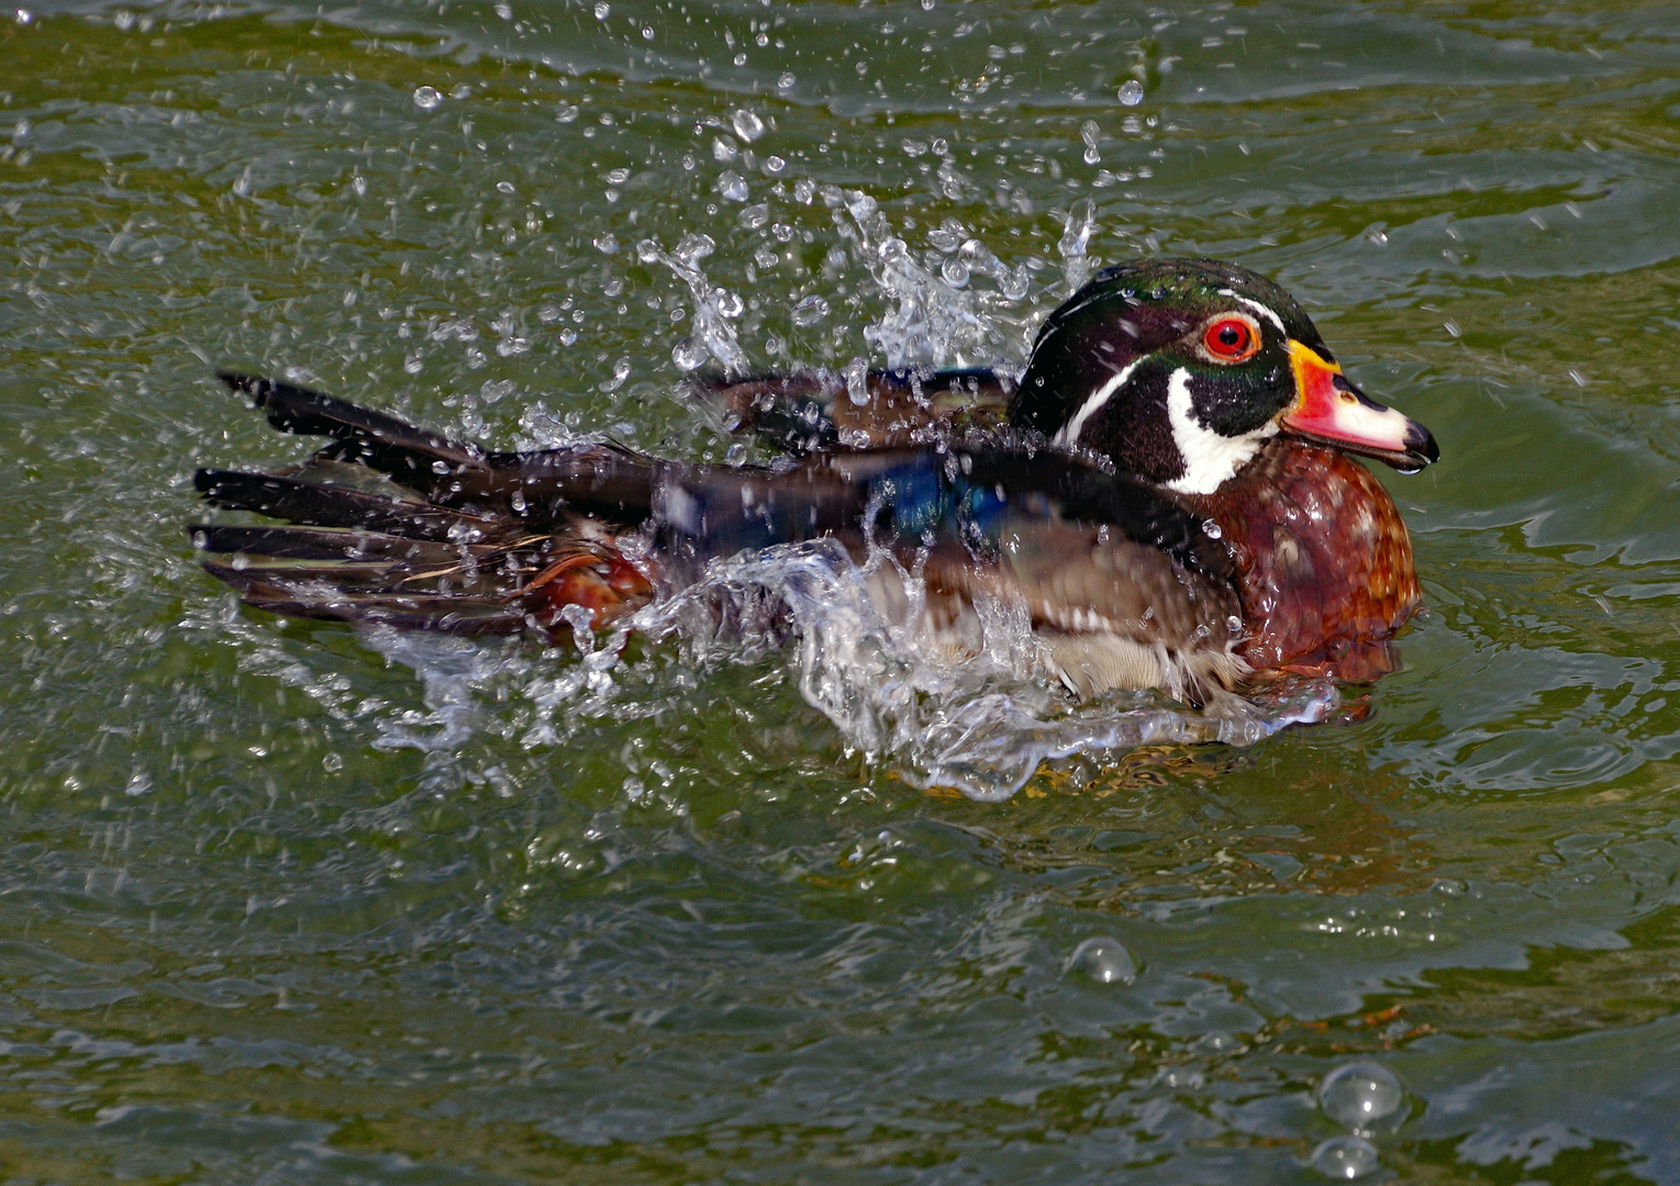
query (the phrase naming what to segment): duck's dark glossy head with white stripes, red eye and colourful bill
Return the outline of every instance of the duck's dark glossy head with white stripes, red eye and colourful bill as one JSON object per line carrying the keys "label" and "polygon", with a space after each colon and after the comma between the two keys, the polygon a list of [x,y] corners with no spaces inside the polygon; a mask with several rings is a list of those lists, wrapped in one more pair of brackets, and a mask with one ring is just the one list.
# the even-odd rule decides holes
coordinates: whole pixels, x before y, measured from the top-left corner
{"label": "duck's dark glossy head with white stripes, red eye and colourful bill", "polygon": [[1440,457],[1347,381],[1289,292],[1205,259],[1099,272],[1038,331],[1010,420],[1181,494],[1211,494],[1278,433],[1403,472]]}

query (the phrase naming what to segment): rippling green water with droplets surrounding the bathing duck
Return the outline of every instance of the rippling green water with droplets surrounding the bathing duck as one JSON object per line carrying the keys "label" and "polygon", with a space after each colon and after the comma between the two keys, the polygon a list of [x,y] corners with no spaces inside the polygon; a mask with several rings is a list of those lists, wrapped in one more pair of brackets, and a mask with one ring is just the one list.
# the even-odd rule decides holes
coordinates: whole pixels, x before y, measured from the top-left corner
{"label": "rippling green water with droplets surrounding the bathing duck", "polygon": [[[10,1178],[1680,1181],[1673,7],[25,7]],[[979,801],[791,643],[363,637],[186,548],[195,465],[297,455],[215,365],[722,460],[690,358],[1018,365],[1151,250],[1441,440],[1364,717]]]}

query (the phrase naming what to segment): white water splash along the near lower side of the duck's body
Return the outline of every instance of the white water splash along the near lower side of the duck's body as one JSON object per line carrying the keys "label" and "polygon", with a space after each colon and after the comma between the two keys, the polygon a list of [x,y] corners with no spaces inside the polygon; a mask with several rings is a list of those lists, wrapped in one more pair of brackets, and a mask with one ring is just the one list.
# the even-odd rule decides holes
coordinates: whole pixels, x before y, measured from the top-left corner
{"label": "white water splash along the near lower side of the duck's body", "polygon": [[580,618],[580,662],[524,689],[538,711],[524,743],[559,746],[570,719],[635,709],[613,677],[632,632],[674,642],[689,672],[786,648],[800,695],[848,746],[916,786],[986,801],[1010,798],[1047,761],[1163,743],[1247,746],[1322,721],[1339,702],[1327,680],[1302,680],[1201,712],[1152,692],[1074,706],[1047,675],[1023,603],[979,601],[961,638],[936,630],[926,605],[914,568],[885,551],[855,561],[832,539],[712,561],[603,638]]}

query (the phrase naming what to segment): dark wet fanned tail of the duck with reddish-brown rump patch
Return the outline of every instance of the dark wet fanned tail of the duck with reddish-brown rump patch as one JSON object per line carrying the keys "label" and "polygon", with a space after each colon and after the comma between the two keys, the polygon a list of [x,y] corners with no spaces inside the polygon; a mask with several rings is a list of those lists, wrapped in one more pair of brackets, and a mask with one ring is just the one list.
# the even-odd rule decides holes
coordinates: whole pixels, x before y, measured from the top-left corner
{"label": "dark wet fanned tail of the duck with reddish-brown rump patch", "polygon": [[652,596],[610,524],[652,514],[660,464],[613,443],[486,454],[319,391],[220,373],[282,432],[331,437],[269,474],[205,469],[212,506],[291,526],[198,524],[200,563],[252,606],[287,617],[454,633],[570,630]]}

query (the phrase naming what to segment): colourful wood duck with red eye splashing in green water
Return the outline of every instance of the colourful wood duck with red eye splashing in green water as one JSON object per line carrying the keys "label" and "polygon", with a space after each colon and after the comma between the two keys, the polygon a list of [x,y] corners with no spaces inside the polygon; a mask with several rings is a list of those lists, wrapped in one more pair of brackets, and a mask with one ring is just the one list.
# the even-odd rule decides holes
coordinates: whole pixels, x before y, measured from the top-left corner
{"label": "colourful wood duck with red eye splashing in green water", "polygon": [[284,383],[222,373],[281,430],[331,437],[269,474],[200,470],[203,564],[254,606],[449,632],[595,628],[743,549],[874,548],[877,601],[924,581],[954,653],[976,606],[1025,606],[1075,695],[1191,704],[1268,672],[1371,680],[1420,603],[1386,491],[1347,454],[1436,460],[1346,380],[1302,307],[1215,260],[1100,272],[1047,319],[1018,381],[880,371],[701,386],[786,457],[697,465],[613,443],[487,452]]}

